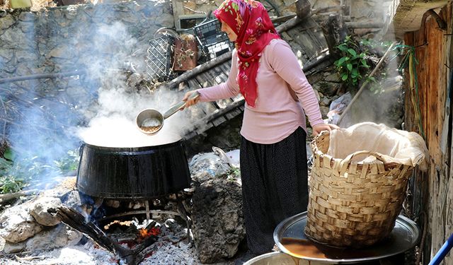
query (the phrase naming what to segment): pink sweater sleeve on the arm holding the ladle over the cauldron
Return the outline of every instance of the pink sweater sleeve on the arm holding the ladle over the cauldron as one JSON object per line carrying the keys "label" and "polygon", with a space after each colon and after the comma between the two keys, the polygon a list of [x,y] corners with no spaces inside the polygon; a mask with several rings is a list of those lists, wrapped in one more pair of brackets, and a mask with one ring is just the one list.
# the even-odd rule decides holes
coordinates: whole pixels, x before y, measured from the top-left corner
{"label": "pink sweater sleeve on the arm holding the ladle over the cauldron", "polygon": [[215,101],[225,98],[233,98],[239,94],[239,84],[236,81],[238,75],[237,52],[236,49],[231,53],[231,69],[228,78],[224,83],[208,88],[200,88],[197,91],[200,93],[200,101]]}

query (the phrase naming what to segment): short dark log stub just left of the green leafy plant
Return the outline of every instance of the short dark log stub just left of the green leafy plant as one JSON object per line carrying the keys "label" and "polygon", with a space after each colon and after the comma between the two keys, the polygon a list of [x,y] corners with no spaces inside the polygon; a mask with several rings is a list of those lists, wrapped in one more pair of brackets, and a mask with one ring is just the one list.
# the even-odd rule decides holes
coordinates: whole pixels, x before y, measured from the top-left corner
{"label": "short dark log stub just left of the green leafy plant", "polygon": [[345,40],[348,35],[348,28],[346,27],[342,16],[339,14],[331,14],[328,19],[321,23],[324,37],[326,38],[329,53],[332,54],[333,59],[340,57],[340,51],[336,48]]}

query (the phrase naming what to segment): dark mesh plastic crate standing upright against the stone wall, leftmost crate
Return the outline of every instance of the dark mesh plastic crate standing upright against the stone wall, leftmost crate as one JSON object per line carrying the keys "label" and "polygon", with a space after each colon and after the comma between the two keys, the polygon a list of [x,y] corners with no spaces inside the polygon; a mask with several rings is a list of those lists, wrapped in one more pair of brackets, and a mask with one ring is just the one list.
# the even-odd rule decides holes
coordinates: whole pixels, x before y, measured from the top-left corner
{"label": "dark mesh plastic crate standing upright against the stone wall, leftmost crate", "polygon": [[172,54],[175,38],[163,35],[149,41],[147,49],[147,73],[151,80],[167,81],[171,78]]}

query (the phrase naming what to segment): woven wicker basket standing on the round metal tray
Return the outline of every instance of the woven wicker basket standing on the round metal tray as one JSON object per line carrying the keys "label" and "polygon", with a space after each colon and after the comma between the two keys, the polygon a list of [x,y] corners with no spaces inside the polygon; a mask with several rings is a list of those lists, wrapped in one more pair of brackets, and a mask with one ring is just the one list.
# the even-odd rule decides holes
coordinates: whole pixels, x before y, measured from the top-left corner
{"label": "woven wicker basket standing on the round metal tray", "polygon": [[[393,230],[413,167],[384,163],[379,153],[368,151],[333,158],[326,155],[329,135],[323,132],[311,142],[314,164],[304,233],[311,240],[336,247],[373,245]],[[351,161],[360,154],[377,159]]]}

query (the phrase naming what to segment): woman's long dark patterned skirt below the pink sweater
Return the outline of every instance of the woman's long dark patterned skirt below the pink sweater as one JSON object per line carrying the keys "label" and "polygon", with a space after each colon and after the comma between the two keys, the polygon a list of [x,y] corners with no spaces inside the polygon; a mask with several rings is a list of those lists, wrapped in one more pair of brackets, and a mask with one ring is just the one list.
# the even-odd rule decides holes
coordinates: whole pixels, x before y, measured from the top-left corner
{"label": "woman's long dark patterned skirt below the pink sweater", "polygon": [[253,143],[242,137],[240,156],[248,249],[268,253],[275,244],[275,227],[306,211],[306,133],[299,127],[273,144]]}

